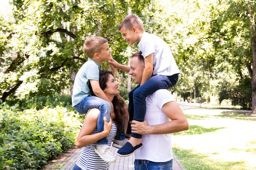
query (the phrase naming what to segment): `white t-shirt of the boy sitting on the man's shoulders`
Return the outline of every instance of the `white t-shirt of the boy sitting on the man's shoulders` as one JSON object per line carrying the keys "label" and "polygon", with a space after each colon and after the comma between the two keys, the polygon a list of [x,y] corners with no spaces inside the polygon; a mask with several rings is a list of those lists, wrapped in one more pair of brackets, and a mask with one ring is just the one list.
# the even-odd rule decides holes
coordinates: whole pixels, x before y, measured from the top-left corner
{"label": "white t-shirt of the boy sitting on the man's shoulders", "polygon": [[162,38],[144,32],[137,46],[144,58],[153,53],[153,75],[168,76],[180,73],[168,44]]}

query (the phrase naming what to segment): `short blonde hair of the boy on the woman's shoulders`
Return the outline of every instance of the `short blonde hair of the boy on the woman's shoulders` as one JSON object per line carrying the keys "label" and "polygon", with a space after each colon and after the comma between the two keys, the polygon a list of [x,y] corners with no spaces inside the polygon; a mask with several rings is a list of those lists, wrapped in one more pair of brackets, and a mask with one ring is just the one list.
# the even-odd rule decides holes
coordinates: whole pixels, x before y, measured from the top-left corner
{"label": "short blonde hair of the boy on the woman's shoulders", "polygon": [[102,44],[108,42],[107,39],[102,37],[92,37],[85,40],[83,44],[83,51],[89,58],[93,58],[95,53],[100,53]]}

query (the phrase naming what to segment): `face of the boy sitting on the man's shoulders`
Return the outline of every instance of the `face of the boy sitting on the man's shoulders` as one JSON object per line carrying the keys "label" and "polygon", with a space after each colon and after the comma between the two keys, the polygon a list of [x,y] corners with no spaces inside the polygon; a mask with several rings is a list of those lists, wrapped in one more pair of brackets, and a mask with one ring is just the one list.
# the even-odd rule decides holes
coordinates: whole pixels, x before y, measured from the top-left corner
{"label": "face of the boy sitting on the man's shoulders", "polygon": [[120,29],[124,41],[127,41],[130,45],[137,42],[137,29],[132,27],[132,29],[126,29],[124,26]]}

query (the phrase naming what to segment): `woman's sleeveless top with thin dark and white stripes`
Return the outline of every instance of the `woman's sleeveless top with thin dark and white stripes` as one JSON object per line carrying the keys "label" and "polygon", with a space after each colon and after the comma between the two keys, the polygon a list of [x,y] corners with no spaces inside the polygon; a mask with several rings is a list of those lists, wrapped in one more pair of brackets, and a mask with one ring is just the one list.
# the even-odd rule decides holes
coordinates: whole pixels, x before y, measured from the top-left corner
{"label": "woman's sleeveless top with thin dark and white stripes", "polygon": [[[97,128],[92,132],[92,134],[97,133]],[[108,146],[111,146],[112,139],[117,135],[117,126],[112,124],[112,129],[110,134],[107,136]],[[109,163],[103,161],[101,157],[94,151],[97,142],[83,147],[83,151],[76,162],[76,165],[83,170],[108,170]]]}

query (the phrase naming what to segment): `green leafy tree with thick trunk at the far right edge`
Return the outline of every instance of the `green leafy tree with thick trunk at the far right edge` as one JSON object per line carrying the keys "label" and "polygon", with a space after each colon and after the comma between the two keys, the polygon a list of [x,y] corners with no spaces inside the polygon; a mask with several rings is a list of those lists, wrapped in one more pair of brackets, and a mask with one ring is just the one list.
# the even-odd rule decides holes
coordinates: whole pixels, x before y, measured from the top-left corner
{"label": "green leafy tree with thick trunk at the far right edge", "polygon": [[[244,106],[252,108],[252,114],[256,114],[255,5],[255,0],[220,1],[211,30],[218,61],[222,65],[229,63],[240,82],[234,94],[242,94],[233,98],[240,97],[247,103]],[[251,79],[251,86],[245,83],[248,79]],[[251,97],[247,89],[251,89]]]}

